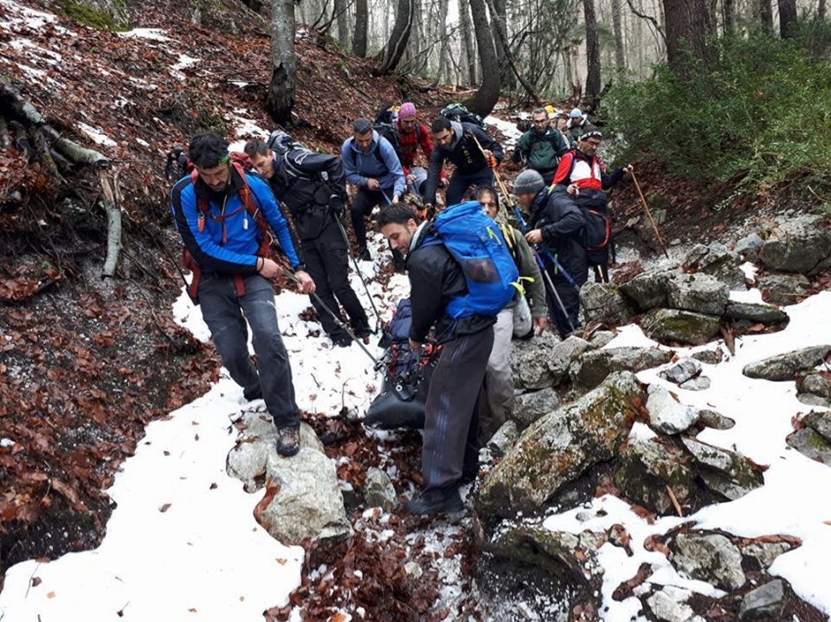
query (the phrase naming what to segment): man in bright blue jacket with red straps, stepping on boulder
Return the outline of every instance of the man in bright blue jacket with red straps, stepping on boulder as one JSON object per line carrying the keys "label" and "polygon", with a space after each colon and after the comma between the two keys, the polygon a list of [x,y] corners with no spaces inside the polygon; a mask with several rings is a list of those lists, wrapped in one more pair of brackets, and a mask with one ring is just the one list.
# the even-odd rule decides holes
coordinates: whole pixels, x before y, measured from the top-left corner
{"label": "man in bright blue jacket with red straps, stepping on boulder", "polygon": [[[298,289],[311,293],[314,282],[297,257],[288,223],[268,184],[232,164],[228,143],[218,135],[194,136],[188,152],[197,174],[175,184],[170,203],[176,228],[195,264],[194,279],[199,274],[202,316],[223,365],[243,387],[245,399],[265,400],[278,429],[278,453],[293,456],[300,447],[300,413],[277,323],[274,290],[268,282],[283,269],[263,256],[263,232],[247,201],[253,201],[253,208],[277,234]],[[256,366],[248,354],[246,321]]]}

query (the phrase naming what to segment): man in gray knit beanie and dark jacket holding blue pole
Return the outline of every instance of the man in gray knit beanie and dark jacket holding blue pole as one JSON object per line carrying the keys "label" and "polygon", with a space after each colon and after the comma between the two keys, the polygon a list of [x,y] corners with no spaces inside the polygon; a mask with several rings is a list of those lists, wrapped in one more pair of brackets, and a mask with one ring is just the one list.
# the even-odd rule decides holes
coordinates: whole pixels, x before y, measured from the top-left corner
{"label": "man in gray knit beanie and dark jacket holding blue pole", "polygon": [[543,258],[550,279],[546,282],[548,313],[565,339],[580,326],[580,287],[588,278],[583,213],[564,188],[549,191],[535,170],[517,176],[514,194],[531,214],[525,239],[538,246]]}

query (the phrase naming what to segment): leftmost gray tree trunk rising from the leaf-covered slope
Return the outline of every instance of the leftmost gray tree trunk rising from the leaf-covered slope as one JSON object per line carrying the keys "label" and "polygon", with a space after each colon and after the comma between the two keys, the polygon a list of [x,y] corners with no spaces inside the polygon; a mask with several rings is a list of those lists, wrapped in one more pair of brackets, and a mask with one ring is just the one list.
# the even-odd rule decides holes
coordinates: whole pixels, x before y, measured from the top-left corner
{"label": "leftmost gray tree trunk rising from the leaf-covered slope", "polygon": [[294,0],[271,2],[271,81],[266,110],[278,125],[288,125],[294,108],[297,56],[294,53]]}

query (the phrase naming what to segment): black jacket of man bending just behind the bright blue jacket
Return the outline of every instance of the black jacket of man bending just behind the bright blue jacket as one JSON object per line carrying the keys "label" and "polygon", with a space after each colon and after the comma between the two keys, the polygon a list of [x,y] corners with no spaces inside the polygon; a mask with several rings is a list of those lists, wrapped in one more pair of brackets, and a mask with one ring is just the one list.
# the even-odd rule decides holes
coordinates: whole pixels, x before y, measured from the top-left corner
{"label": "black jacket of man bending just behind the bright blue jacket", "polygon": [[341,159],[307,149],[275,153],[274,174],[268,183],[292,214],[302,240],[319,238],[335,214],[341,212],[347,196]]}

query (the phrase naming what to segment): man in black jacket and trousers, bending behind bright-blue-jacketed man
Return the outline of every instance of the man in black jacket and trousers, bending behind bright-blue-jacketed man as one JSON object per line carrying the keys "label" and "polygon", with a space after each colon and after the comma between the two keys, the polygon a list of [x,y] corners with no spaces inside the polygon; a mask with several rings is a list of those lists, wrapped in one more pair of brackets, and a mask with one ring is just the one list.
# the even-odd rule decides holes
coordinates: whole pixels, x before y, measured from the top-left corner
{"label": "man in black jacket and trousers, bending behind bright-blue-jacketed man", "polygon": [[[272,139],[275,149],[269,149],[262,140],[249,140],[245,153],[258,173],[268,179],[274,195],[288,207],[307,270],[317,285],[319,299],[312,296],[312,305],[332,343],[346,347],[352,343],[352,337],[339,326],[344,322],[338,301],[346,309],[359,339],[368,337],[371,331],[366,311],[349,284],[349,247],[337,220],[347,196],[341,159],[304,149],[290,142],[284,133],[273,135]],[[337,321],[320,301],[337,313]]]}

